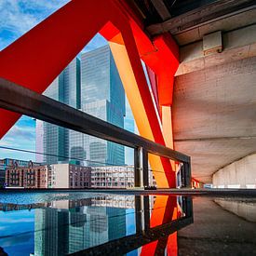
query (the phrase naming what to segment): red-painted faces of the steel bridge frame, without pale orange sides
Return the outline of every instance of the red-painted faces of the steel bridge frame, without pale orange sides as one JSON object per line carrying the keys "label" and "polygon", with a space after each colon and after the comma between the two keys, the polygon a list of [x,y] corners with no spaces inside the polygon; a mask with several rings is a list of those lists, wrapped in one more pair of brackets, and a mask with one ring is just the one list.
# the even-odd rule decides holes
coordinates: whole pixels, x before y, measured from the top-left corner
{"label": "red-painted faces of the steel bridge frame, without pale orange sides", "polygon": [[[116,43],[127,47],[154,140],[166,145],[140,58],[158,77],[160,104],[171,104],[172,85],[169,81],[177,66],[177,47],[168,35],[159,36],[151,42],[141,30],[141,24],[132,19],[117,2],[73,0],[61,7],[0,52],[0,77],[43,93],[90,39],[101,31],[108,40],[116,40]],[[19,117],[18,114],[0,110],[0,138]],[[174,186],[174,173],[168,160],[162,159],[162,163],[165,170],[171,173],[169,186]]]}

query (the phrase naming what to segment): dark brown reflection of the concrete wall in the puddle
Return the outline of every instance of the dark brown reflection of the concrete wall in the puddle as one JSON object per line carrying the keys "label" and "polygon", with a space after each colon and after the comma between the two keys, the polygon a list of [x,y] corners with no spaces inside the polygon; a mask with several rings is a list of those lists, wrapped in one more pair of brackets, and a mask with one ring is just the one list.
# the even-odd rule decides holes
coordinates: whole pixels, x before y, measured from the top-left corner
{"label": "dark brown reflection of the concrete wall in the puddle", "polygon": [[194,223],[178,231],[179,255],[256,254],[255,222],[222,209],[213,198],[194,197],[193,209]]}

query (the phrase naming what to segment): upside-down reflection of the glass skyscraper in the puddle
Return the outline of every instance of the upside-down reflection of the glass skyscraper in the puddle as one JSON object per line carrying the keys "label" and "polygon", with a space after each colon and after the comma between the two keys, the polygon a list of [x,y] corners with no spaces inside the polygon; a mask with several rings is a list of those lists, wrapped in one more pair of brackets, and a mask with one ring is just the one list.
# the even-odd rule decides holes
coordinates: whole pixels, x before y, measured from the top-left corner
{"label": "upside-down reflection of the glass skyscraper in the puddle", "polygon": [[97,206],[91,199],[83,205],[65,200],[34,210],[34,255],[66,255],[126,236],[125,208]]}

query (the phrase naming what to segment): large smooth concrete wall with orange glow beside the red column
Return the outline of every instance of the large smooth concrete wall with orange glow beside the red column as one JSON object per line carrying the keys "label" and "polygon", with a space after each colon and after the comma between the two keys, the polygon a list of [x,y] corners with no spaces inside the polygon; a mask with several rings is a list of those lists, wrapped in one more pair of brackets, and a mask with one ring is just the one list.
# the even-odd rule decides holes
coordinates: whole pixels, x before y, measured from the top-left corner
{"label": "large smooth concrete wall with orange glow beside the red column", "polygon": [[256,152],[255,81],[256,57],[176,76],[174,148],[191,156],[200,182]]}

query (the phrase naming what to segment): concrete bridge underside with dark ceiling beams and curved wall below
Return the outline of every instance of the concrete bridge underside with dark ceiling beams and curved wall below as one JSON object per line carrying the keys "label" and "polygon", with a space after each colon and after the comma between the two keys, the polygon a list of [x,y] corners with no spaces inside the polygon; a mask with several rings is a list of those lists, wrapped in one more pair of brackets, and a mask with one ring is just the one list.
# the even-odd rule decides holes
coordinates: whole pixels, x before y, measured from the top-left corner
{"label": "concrete bridge underside with dark ceiling beams and curved wall below", "polygon": [[195,179],[212,182],[215,172],[256,152],[255,1],[133,2],[148,34],[169,33],[180,47],[174,149],[191,156]]}

